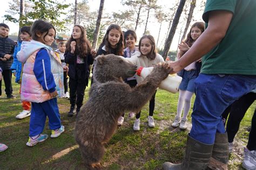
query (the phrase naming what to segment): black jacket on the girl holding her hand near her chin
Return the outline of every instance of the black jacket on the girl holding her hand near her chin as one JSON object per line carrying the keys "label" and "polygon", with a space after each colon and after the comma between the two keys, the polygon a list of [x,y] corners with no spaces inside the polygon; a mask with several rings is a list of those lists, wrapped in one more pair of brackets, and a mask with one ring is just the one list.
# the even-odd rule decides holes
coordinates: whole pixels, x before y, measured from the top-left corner
{"label": "black jacket on the girl holding her hand near her chin", "polygon": [[70,51],[65,51],[64,57],[65,57],[65,63],[69,64],[68,76],[72,79],[84,78],[86,80],[86,86],[87,86],[89,76],[90,76],[89,65],[93,64],[93,57],[92,57],[91,53],[84,58],[84,67],[83,67],[83,69],[86,71],[86,73],[83,74],[83,75],[77,75],[76,74],[77,73],[77,71],[76,71],[76,69],[77,69],[76,68],[76,66],[77,66],[77,54],[76,53],[72,54]]}

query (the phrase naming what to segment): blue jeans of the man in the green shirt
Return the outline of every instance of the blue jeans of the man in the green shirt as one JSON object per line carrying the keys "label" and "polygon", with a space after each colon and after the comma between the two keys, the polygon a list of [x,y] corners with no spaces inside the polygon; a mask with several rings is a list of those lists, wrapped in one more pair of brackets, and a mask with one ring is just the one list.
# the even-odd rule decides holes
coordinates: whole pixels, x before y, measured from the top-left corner
{"label": "blue jeans of the man in the green shirt", "polygon": [[216,132],[225,133],[221,114],[235,100],[255,89],[256,76],[200,73],[195,85],[190,136],[211,145]]}

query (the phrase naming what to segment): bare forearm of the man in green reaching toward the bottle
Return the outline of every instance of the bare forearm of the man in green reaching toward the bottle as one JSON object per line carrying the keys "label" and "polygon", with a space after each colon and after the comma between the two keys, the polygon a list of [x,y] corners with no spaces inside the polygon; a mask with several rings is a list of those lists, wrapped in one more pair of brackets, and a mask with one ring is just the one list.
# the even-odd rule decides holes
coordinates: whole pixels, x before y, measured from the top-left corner
{"label": "bare forearm of the man in green reaching toward the bottle", "polygon": [[200,59],[218,45],[225,37],[232,17],[233,13],[231,11],[210,11],[207,29],[179,60],[170,62],[170,66],[173,67],[173,73],[184,69],[187,65]]}

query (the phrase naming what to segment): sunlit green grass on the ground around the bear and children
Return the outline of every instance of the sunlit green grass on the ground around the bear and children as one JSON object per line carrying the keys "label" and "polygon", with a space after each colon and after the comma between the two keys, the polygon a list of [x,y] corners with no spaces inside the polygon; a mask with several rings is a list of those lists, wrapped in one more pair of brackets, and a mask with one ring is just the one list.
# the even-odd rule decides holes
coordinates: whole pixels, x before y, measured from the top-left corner
{"label": "sunlit green grass on the ground around the bear and children", "polygon": [[[4,87],[4,85],[2,85]],[[29,134],[29,118],[15,119],[22,111],[18,95],[19,84],[13,83],[14,95],[17,99],[0,99],[0,142],[9,148],[0,153],[0,169],[84,169],[78,145],[73,137],[75,117],[69,118],[69,100],[58,99],[59,111],[65,132],[56,139],[47,139],[33,147],[26,146]],[[3,91],[4,92],[4,91]],[[88,98],[86,89],[84,102]],[[123,126],[117,128],[110,142],[106,145],[106,153],[102,161],[104,169],[161,169],[165,161],[181,162],[186,147],[188,131],[173,129],[171,120],[177,109],[178,94],[158,90],[154,119],[155,128],[147,126],[149,105],[142,110],[140,131],[132,129],[134,118],[127,118]],[[194,96],[192,99],[192,105]],[[236,139],[246,145],[255,103],[247,111],[241,122]],[[192,109],[191,109],[192,111]],[[191,111],[188,121],[191,121]],[[48,120],[44,133],[50,134]],[[231,154],[228,165],[231,169],[241,168],[241,158]]]}

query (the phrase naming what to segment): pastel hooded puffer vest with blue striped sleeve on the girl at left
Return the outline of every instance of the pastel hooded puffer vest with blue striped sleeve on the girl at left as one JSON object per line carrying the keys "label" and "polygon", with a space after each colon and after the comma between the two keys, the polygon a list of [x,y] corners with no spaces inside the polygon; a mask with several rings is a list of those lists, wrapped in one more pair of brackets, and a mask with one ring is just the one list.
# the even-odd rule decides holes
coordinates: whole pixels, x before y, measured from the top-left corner
{"label": "pastel hooded puffer vest with blue striped sleeve on the girl at left", "polygon": [[50,100],[55,90],[63,96],[63,67],[51,47],[35,40],[22,42],[17,59],[24,64],[22,100],[42,103]]}

